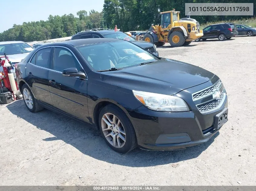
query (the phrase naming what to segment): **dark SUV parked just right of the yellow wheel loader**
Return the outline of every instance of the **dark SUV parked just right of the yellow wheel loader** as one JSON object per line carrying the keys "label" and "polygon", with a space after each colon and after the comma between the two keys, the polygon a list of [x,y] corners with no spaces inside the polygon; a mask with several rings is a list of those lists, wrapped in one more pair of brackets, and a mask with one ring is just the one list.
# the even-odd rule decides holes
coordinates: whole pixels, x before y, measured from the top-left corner
{"label": "dark SUV parked just right of the yellow wheel loader", "polygon": [[218,38],[219,40],[230,39],[238,35],[237,27],[234,23],[212,24],[203,29],[204,36],[195,41]]}

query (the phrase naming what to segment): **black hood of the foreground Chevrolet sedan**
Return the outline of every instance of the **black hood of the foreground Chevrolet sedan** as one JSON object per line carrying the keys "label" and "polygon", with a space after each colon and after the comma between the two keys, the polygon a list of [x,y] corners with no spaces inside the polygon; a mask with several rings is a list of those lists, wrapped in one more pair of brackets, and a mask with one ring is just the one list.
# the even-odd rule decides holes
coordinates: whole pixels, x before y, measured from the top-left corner
{"label": "black hood of the foreground Chevrolet sedan", "polygon": [[101,80],[107,83],[167,95],[205,83],[213,76],[203,68],[166,58],[123,70],[101,72]]}

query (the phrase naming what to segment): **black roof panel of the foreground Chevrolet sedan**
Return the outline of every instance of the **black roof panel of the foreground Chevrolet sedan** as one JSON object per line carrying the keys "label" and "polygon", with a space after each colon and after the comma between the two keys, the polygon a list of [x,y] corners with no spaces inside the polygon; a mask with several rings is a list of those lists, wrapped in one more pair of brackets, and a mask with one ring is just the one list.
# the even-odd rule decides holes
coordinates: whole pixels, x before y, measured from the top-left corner
{"label": "black roof panel of the foreground Chevrolet sedan", "polygon": [[[88,44],[97,44],[97,43],[105,43],[105,42],[115,42],[115,41],[125,41],[121,39],[113,39],[113,38],[88,38],[88,39],[76,39],[76,40],[68,40],[62,41],[59,43],[53,43],[55,46],[60,46],[64,44],[70,44],[72,46],[82,46]],[[50,46],[51,43],[42,46]]]}

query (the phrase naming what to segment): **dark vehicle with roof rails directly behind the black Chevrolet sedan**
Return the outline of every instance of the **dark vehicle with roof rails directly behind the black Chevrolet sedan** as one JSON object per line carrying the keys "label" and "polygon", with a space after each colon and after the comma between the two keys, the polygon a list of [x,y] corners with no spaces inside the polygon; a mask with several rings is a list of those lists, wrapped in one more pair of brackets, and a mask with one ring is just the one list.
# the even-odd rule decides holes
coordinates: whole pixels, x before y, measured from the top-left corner
{"label": "dark vehicle with roof rails directly behind the black Chevrolet sedan", "polygon": [[130,37],[129,35],[115,30],[89,30],[84,31],[83,33],[77,33],[71,37],[71,40],[75,39],[85,39],[85,38],[115,38],[115,39],[123,39],[128,40],[131,43],[140,46],[141,48],[146,49],[148,52],[154,54],[155,56],[159,56],[156,46],[153,43],[148,43],[141,40],[135,40],[134,37]]}

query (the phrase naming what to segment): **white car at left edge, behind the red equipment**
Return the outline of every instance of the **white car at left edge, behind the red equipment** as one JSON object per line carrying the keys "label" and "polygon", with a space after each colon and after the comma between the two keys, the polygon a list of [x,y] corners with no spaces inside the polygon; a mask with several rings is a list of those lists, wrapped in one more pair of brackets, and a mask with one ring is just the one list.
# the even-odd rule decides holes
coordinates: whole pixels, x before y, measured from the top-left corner
{"label": "white car at left edge, behind the red equipment", "polygon": [[[21,62],[21,60],[24,59],[33,49],[33,47],[23,41],[0,42],[0,57],[6,54],[14,66]],[[2,66],[0,66],[0,71],[3,71]]]}

